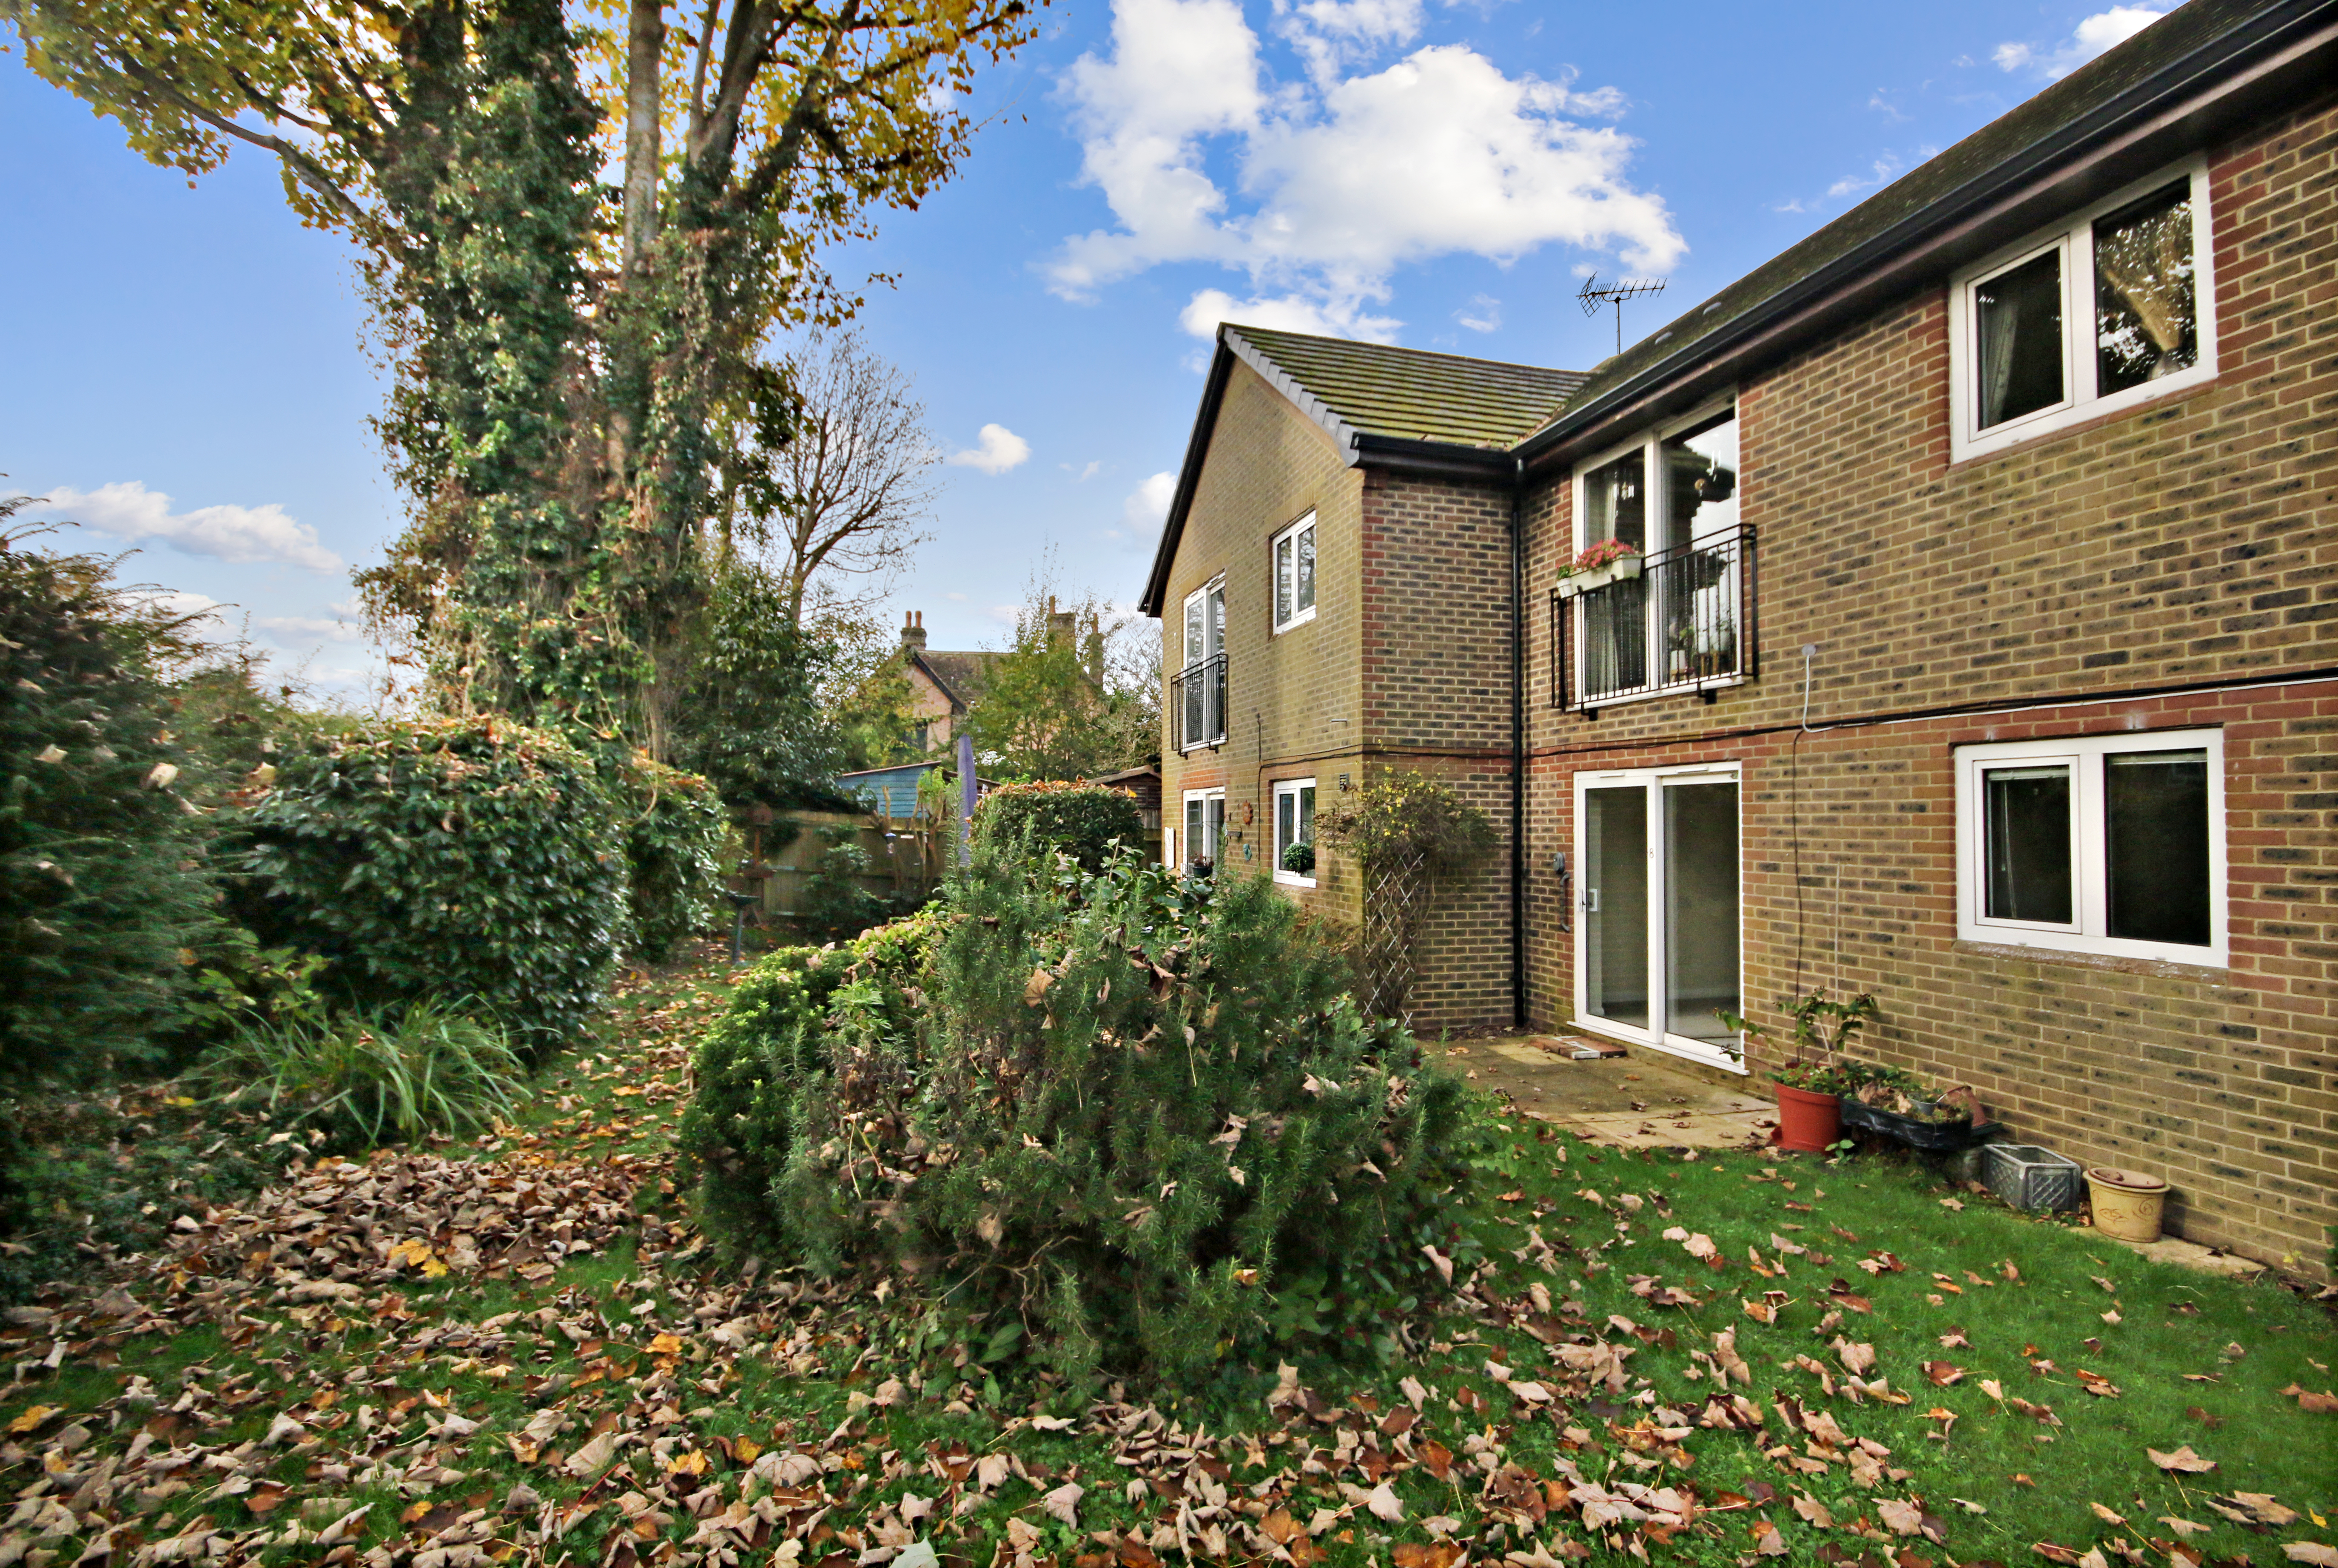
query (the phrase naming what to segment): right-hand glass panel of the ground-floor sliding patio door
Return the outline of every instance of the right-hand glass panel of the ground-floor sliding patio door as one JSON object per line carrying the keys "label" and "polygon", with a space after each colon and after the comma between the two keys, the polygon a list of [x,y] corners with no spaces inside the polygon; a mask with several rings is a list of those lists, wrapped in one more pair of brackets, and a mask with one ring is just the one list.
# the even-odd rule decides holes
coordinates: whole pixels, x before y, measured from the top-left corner
{"label": "right-hand glass panel of the ground-floor sliding patio door", "polygon": [[1737,783],[1662,785],[1665,804],[1665,1033],[1700,1047],[1735,1045],[1714,1010],[1737,995]]}

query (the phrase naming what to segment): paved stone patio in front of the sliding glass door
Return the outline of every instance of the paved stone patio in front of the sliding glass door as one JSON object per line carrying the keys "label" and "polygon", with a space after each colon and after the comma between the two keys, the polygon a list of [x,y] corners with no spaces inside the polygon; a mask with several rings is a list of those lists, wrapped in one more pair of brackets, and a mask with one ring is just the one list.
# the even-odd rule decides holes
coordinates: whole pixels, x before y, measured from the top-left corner
{"label": "paved stone patio in front of the sliding glass door", "polygon": [[1454,1040],[1450,1068],[1536,1122],[1627,1150],[1744,1150],[1770,1140],[1777,1105],[1662,1052],[1573,1061],[1569,1035]]}

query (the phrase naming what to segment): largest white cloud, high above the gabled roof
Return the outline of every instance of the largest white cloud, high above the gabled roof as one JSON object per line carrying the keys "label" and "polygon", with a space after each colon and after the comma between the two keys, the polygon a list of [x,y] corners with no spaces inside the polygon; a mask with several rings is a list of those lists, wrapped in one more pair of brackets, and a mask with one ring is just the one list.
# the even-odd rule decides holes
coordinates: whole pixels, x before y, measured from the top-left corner
{"label": "largest white cloud, high above the gabled roof", "polygon": [[[1113,54],[1064,79],[1082,138],[1082,182],[1118,227],[1066,238],[1047,264],[1068,299],[1167,262],[1248,273],[1251,299],[1202,290],[1213,311],[1277,311],[1349,337],[1389,337],[1370,315],[1396,269],[1440,255],[1508,264],[1545,243],[1616,252],[1641,273],[1686,252],[1662,199],[1625,178],[1632,138],[1583,117],[1623,110],[1573,77],[1508,77],[1459,44],[1414,49],[1372,75],[1340,75],[1410,44],[1419,0],[1307,0],[1279,9],[1309,82],[1272,89],[1234,0],[1115,0]],[[1223,187],[1209,168],[1232,159]],[[1239,199],[1239,210],[1237,210]]]}

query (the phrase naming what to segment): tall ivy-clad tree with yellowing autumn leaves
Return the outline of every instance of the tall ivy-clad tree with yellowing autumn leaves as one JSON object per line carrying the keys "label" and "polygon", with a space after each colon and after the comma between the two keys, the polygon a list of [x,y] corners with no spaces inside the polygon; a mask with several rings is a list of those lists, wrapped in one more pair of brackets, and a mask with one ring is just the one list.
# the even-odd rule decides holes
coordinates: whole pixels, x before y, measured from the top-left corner
{"label": "tall ivy-clad tree with yellowing autumn leaves", "polygon": [[[26,63],[189,175],[274,154],[358,248],[409,526],[362,575],[440,706],[664,750],[774,327],[858,304],[821,252],[966,157],[1029,0],[0,0]],[[599,171],[617,161],[622,185]]]}

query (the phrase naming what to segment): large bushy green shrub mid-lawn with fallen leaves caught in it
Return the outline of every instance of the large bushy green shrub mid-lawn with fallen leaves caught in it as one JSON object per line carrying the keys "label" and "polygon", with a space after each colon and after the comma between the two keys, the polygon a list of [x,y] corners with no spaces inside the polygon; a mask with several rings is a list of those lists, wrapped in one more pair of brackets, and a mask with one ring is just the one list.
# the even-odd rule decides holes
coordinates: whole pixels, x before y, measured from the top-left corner
{"label": "large bushy green shrub mid-lawn with fallen leaves caught in it", "polygon": [[1057,867],[982,846],[924,965],[872,932],[741,986],[685,1122],[704,1222],[945,1281],[1066,1374],[1370,1344],[1438,1285],[1461,1084],[1265,879]]}

